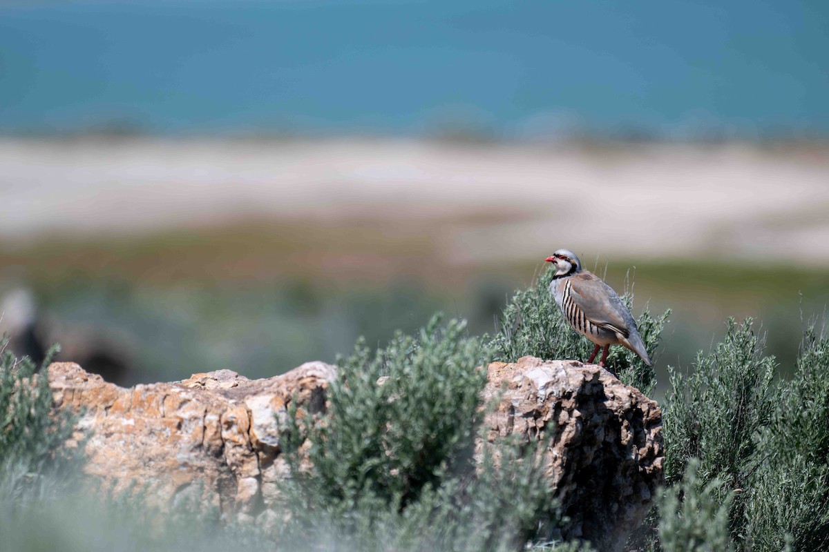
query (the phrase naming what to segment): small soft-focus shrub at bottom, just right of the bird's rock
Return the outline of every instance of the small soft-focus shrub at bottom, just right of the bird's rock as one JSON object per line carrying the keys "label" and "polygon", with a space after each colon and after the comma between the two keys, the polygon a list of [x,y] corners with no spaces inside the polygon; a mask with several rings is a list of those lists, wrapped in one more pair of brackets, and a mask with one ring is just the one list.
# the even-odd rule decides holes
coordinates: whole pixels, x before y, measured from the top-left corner
{"label": "small soft-focus shrub at bottom, just right of the bird's rock", "polygon": [[699,463],[691,460],[686,473],[659,499],[659,540],[664,552],[728,552],[731,493],[719,479],[702,480]]}

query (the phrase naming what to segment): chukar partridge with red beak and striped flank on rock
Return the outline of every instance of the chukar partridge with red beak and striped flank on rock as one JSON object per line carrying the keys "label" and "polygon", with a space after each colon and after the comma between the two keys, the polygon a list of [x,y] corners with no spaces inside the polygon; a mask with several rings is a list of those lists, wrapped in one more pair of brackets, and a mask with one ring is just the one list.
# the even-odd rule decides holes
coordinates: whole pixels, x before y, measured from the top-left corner
{"label": "chukar partridge with red beak and striped flank on rock", "polygon": [[587,362],[593,362],[604,346],[599,362],[599,366],[604,366],[610,346],[622,345],[651,365],[636,320],[613,288],[593,272],[585,271],[579,257],[569,249],[559,249],[545,261],[555,265],[550,291],[561,313],[575,331],[596,345]]}

